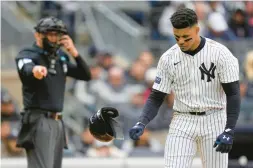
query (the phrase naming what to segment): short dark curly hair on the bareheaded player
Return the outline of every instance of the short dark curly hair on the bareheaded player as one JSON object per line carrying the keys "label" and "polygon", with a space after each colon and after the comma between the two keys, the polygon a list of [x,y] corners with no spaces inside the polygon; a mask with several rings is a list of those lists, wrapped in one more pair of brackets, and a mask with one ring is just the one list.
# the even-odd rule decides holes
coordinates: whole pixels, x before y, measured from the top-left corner
{"label": "short dark curly hair on the bareheaded player", "polygon": [[180,8],[171,16],[170,21],[174,28],[184,29],[198,23],[198,17],[191,9]]}

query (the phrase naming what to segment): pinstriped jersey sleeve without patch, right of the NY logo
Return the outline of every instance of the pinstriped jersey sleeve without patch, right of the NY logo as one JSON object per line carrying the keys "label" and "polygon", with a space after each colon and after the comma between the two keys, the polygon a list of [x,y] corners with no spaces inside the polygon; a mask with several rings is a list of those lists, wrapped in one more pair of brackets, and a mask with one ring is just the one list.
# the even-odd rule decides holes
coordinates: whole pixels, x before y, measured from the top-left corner
{"label": "pinstriped jersey sleeve without patch, right of the NY logo", "polygon": [[228,49],[221,53],[218,64],[218,75],[221,83],[230,83],[239,80],[238,59]]}

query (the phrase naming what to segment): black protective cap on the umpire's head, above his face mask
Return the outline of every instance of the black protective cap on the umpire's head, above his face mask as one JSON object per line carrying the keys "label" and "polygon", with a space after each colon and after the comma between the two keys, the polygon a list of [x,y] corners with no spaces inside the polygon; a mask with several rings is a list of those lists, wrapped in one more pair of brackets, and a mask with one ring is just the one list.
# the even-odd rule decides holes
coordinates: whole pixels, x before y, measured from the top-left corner
{"label": "black protective cap on the umpire's head, above his face mask", "polygon": [[39,33],[56,31],[68,34],[67,27],[63,21],[52,16],[40,19],[34,29]]}

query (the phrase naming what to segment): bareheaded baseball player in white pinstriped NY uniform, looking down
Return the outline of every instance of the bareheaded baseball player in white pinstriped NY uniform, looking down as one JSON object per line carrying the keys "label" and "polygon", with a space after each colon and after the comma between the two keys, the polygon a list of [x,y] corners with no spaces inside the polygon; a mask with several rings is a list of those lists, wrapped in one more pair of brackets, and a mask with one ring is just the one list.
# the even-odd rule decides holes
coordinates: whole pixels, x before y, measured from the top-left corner
{"label": "bareheaded baseball player in white pinstriped NY uniform, looking down", "polygon": [[153,90],[129,131],[133,140],[175,94],[165,167],[191,167],[199,150],[205,168],[227,168],[240,109],[238,60],[222,44],[199,35],[196,13],[179,9],[170,21],[177,44],[160,58]]}

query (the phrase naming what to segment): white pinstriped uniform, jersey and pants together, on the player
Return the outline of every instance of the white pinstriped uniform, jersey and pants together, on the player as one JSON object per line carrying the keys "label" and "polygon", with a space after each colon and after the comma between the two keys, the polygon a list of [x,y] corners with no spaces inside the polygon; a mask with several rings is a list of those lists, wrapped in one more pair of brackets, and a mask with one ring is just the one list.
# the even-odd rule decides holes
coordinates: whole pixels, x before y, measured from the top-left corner
{"label": "white pinstriped uniform, jersey and pants together, on the player", "polygon": [[[174,45],[159,60],[153,88],[175,94],[165,145],[165,168],[190,168],[197,153],[204,168],[227,168],[228,154],[213,143],[226,125],[226,95],[221,83],[239,80],[238,60],[222,44],[206,38],[194,56]],[[209,115],[187,112],[209,111]]]}

